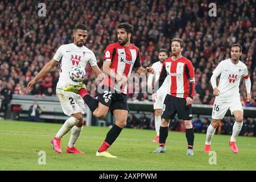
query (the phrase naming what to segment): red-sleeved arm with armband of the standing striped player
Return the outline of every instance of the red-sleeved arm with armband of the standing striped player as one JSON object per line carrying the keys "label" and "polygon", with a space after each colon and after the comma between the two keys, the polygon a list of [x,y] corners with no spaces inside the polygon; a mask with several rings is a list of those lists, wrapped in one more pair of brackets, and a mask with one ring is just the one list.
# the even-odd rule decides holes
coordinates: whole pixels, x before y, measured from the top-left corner
{"label": "red-sleeved arm with armband of the standing striped player", "polygon": [[188,63],[185,64],[185,72],[189,81],[189,93],[188,93],[188,97],[186,98],[186,101],[187,101],[186,105],[188,106],[192,104],[193,96],[195,94],[195,82],[196,82],[195,72],[194,72],[191,61],[188,61]]}

